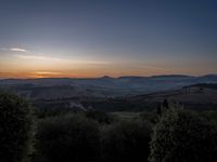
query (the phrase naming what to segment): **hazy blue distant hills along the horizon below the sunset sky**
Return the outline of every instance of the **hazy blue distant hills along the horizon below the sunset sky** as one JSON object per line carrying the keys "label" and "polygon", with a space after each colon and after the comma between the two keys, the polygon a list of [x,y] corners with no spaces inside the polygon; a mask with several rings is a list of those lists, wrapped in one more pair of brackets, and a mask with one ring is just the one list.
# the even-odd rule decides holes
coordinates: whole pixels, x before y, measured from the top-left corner
{"label": "hazy blue distant hills along the horizon below the sunset sky", "polygon": [[217,75],[201,77],[167,75],[153,77],[3,79],[0,86],[39,98],[117,97],[178,90],[199,83],[217,83]]}

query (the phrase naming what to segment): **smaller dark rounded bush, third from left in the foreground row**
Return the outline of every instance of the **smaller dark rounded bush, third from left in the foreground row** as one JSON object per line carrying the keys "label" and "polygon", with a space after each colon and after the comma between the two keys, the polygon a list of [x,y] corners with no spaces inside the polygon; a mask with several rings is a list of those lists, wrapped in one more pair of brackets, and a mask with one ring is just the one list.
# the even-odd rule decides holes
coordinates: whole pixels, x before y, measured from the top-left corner
{"label": "smaller dark rounded bush, third from left in the foreground row", "polygon": [[103,160],[108,162],[146,161],[150,154],[151,126],[144,121],[123,121],[103,131]]}

